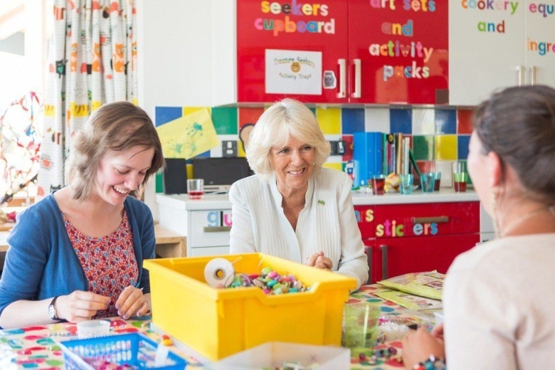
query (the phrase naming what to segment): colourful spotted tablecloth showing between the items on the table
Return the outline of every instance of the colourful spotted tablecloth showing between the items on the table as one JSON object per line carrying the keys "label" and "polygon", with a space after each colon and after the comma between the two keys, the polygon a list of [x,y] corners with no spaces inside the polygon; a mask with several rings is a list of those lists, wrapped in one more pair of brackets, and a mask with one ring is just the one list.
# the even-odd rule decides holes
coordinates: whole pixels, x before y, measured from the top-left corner
{"label": "colourful spotted tablecloth showing between the items on the table", "polygon": [[[396,322],[402,322],[403,324],[428,326],[433,324],[433,322],[423,319],[425,317],[423,314],[412,312],[415,313],[413,315],[411,310],[374,295],[375,292],[385,289],[385,287],[379,285],[364,285],[360,290],[351,293],[349,304],[369,302],[380,307],[382,318],[394,318]],[[114,334],[142,332],[156,342],[162,341],[162,333],[151,323],[150,317],[131,318],[129,320],[114,317],[110,319],[110,322],[111,331]],[[0,330],[0,369],[62,370],[63,356],[56,341],[76,339],[76,332],[76,325],[70,323]],[[389,349],[390,347],[395,348],[397,353],[394,356],[379,357],[376,364],[371,364],[369,356],[352,354],[351,369],[402,369],[403,364],[400,361],[401,342],[398,340],[385,342],[376,346],[376,349]],[[201,360],[199,360],[201,356],[196,357],[191,355],[190,352],[182,351],[182,349],[181,346],[170,347],[171,351],[188,361],[188,370],[203,369]]]}

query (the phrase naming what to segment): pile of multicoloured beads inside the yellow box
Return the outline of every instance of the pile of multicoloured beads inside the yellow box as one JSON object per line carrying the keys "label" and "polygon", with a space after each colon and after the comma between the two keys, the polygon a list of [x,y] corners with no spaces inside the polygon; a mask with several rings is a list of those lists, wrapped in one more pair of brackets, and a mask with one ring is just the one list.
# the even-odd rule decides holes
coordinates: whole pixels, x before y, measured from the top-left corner
{"label": "pile of multicoloured beads inside the yellow box", "polygon": [[305,292],[310,290],[294,275],[280,275],[272,268],[263,268],[259,274],[236,274],[229,287],[259,287],[267,295]]}

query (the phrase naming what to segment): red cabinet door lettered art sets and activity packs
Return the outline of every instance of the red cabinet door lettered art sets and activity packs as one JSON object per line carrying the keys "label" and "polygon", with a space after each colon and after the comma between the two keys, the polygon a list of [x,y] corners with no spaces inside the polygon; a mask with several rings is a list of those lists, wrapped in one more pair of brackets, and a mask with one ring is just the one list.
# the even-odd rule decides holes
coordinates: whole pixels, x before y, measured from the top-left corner
{"label": "red cabinet door lettered art sets and activity packs", "polygon": [[446,89],[448,1],[349,1],[349,102],[435,104]]}

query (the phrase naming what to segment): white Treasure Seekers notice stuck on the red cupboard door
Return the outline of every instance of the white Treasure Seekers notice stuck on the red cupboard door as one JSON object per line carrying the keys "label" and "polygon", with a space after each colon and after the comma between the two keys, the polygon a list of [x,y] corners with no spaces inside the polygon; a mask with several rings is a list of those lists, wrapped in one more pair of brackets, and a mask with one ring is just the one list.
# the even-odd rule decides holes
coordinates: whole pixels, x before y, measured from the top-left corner
{"label": "white Treasure Seekers notice stuck on the red cupboard door", "polygon": [[265,50],[267,94],[322,95],[322,53]]}

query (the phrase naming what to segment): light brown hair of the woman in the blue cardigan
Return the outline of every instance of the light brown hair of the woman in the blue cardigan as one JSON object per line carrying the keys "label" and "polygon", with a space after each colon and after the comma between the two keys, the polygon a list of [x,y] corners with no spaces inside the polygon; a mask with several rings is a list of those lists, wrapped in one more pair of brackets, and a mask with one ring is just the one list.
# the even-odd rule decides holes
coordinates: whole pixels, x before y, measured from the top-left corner
{"label": "light brown hair of the woman in the blue cardigan", "polygon": [[65,180],[73,199],[80,201],[91,196],[98,164],[109,150],[122,152],[137,146],[154,149],[150,168],[139,189],[129,193],[132,196],[137,196],[140,188],[165,165],[162,144],[152,120],[147,112],[130,102],[102,105],[72,141]]}

